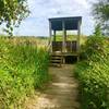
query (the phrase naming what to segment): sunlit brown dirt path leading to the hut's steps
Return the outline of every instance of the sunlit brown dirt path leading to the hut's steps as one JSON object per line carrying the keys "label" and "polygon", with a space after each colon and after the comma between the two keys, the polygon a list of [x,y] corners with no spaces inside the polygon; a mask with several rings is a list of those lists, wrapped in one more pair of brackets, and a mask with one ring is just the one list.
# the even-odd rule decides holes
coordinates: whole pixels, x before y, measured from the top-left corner
{"label": "sunlit brown dirt path leading to the hut's steps", "polygon": [[50,68],[51,84],[27,109],[80,109],[78,84],[73,76],[73,66]]}

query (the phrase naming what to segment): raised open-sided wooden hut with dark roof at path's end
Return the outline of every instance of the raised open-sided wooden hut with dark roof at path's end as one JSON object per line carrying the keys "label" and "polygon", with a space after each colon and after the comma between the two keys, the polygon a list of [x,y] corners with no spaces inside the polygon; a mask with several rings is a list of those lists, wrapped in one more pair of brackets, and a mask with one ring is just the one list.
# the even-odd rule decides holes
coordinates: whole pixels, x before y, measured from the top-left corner
{"label": "raised open-sided wooden hut with dark roof at path's end", "polygon": [[[80,36],[81,36],[82,16],[74,17],[53,17],[49,19],[50,55],[52,62],[59,62],[56,57],[61,57],[62,62],[66,56],[75,56],[80,59]],[[57,32],[62,32],[62,40],[57,41]],[[76,31],[75,40],[66,40],[66,32]],[[72,35],[73,37],[73,35]]]}

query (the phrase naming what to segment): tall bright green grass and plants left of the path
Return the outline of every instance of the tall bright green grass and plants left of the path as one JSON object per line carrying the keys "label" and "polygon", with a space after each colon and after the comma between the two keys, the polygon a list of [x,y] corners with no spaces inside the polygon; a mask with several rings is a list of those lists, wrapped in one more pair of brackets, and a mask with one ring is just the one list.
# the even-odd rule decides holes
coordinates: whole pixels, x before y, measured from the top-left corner
{"label": "tall bright green grass and plants left of the path", "polygon": [[48,52],[25,43],[0,38],[0,109],[21,109],[25,98],[48,81]]}

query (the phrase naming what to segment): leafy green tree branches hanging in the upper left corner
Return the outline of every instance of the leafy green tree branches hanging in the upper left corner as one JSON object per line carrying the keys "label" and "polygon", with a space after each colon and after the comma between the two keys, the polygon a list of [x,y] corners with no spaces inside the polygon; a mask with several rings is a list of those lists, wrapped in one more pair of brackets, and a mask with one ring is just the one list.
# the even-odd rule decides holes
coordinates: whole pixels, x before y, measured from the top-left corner
{"label": "leafy green tree branches hanging in the upper left corner", "polygon": [[4,32],[12,35],[13,27],[17,27],[29,14],[26,0],[0,0],[0,25],[5,23]]}

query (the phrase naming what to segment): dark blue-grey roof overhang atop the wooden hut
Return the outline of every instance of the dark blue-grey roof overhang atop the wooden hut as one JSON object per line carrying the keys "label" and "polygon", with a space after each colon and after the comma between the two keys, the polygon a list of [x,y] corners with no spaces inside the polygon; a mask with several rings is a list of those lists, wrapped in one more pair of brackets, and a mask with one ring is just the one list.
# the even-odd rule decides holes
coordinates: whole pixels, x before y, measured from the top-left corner
{"label": "dark blue-grey roof overhang atop the wooden hut", "polygon": [[53,17],[49,19],[52,31],[62,31],[62,22],[64,22],[65,31],[77,31],[78,22],[82,23],[82,16],[74,17]]}

